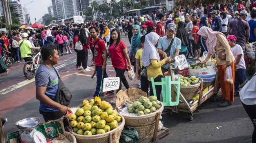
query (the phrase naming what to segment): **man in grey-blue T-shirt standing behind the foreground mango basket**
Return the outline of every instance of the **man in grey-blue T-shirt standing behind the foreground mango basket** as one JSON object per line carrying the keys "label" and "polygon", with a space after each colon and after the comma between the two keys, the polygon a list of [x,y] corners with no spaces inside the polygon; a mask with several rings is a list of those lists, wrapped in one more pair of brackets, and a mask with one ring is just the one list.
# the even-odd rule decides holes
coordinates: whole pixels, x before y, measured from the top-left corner
{"label": "man in grey-blue T-shirt standing behind the foreground mango basket", "polygon": [[58,73],[54,68],[58,64],[58,50],[53,45],[45,45],[41,50],[42,64],[36,72],[36,99],[40,100],[39,111],[45,122],[57,120],[71,110],[54,100],[58,91]]}

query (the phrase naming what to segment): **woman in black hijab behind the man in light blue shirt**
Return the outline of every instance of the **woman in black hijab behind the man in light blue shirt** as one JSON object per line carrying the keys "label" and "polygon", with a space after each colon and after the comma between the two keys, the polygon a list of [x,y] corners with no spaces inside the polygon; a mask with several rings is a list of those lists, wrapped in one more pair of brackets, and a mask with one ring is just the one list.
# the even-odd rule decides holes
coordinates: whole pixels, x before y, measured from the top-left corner
{"label": "woman in black hijab behind the man in light blue shirt", "polygon": [[181,55],[181,54],[186,54],[187,47],[189,46],[189,35],[186,30],[185,22],[180,21],[178,25],[179,27],[177,29],[176,37],[182,41],[182,46],[180,49],[180,55]]}

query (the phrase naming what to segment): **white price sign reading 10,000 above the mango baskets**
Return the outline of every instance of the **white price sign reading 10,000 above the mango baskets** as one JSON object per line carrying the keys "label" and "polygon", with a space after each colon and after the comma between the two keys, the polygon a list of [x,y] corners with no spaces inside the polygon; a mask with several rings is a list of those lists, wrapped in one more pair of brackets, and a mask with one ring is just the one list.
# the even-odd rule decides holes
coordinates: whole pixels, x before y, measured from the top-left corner
{"label": "white price sign reading 10,000 above the mango baskets", "polygon": [[116,90],[119,88],[120,79],[119,77],[108,77],[103,79],[102,92]]}

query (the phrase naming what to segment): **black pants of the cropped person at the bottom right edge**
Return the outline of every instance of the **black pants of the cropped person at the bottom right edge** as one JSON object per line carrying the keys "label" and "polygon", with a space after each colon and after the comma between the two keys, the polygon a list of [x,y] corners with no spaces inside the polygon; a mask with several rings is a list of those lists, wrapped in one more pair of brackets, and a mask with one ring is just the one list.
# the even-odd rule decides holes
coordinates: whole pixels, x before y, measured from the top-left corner
{"label": "black pants of the cropped person at the bottom right edge", "polygon": [[[243,104],[243,108],[247,112],[251,121],[253,119],[256,119],[256,105],[245,105],[245,104]],[[252,143],[256,143],[256,125],[254,125],[253,121],[252,121],[252,124],[254,126],[254,130],[253,130],[253,133],[252,133]]]}

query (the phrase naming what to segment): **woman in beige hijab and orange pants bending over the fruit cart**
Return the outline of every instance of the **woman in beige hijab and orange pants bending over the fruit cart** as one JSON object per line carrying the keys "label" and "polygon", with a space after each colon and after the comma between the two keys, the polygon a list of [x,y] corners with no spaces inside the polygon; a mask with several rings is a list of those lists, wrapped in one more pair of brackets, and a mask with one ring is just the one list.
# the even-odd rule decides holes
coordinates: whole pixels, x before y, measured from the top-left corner
{"label": "woman in beige hijab and orange pants bending over the fruit cart", "polygon": [[[208,54],[204,61],[198,63],[199,65],[205,64],[213,54],[215,54],[217,61],[217,68],[219,70],[219,79],[220,79],[220,87],[222,89],[222,96],[217,98],[217,101],[222,101],[222,103],[218,104],[220,107],[226,107],[232,105],[234,102],[234,84],[230,84],[224,81],[224,75],[226,68],[231,66],[232,69],[232,79],[235,79],[235,69],[234,69],[234,56],[231,52],[229,42],[226,37],[221,32],[212,31],[212,29],[208,27],[202,27],[198,34],[202,36],[206,40],[206,46],[208,48]],[[223,57],[219,57],[221,53],[225,52],[225,59]]]}

